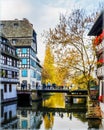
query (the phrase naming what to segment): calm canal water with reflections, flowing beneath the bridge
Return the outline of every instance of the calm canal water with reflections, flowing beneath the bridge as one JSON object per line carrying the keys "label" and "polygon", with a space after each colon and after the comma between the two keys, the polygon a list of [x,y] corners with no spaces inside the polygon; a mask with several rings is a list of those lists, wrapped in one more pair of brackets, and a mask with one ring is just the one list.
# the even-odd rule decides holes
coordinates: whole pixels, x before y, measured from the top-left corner
{"label": "calm canal water with reflections, flowing beneath the bridge", "polygon": [[65,102],[65,95],[44,95],[44,100],[1,105],[1,129],[27,130],[103,130],[98,119],[86,119],[87,107],[80,99]]}

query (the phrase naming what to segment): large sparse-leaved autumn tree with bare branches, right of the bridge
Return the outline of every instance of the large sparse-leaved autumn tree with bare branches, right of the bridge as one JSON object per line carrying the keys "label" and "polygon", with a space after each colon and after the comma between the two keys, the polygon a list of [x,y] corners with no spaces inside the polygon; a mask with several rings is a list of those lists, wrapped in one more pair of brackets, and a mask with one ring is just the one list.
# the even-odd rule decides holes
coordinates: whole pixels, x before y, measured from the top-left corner
{"label": "large sparse-leaved autumn tree with bare branches, right of the bridge", "polygon": [[82,75],[88,90],[96,57],[87,35],[97,15],[86,15],[85,10],[75,9],[70,15],[61,15],[59,24],[45,35],[58,68],[66,68],[70,80]]}

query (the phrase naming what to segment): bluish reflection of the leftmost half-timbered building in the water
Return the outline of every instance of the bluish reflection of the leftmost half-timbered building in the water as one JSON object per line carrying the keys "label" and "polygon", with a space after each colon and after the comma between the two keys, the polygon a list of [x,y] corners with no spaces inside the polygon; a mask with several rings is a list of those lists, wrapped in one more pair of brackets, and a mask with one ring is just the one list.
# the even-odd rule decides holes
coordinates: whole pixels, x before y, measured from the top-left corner
{"label": "bluish reflection of the leftmost half-timbered building in the water", "polygon": [[17,104],[3,104],[0,105],[1,115],[0,115],[0,129],[17,129],[18,119],[16,114]]}

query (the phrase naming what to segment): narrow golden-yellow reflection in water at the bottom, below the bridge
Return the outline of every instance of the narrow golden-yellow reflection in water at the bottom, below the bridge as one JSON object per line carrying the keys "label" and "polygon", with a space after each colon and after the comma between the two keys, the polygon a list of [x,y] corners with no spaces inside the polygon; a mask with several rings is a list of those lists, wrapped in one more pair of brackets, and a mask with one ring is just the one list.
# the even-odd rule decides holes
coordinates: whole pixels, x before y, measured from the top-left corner
{"label": "narrow golden-yellow reflection in water at the bottom, below the bridge", "polygon": [[43,115],[43,119],[44,119],[44,127],[45,127],[45,129],[50,129],[50,128],[53,127],[54,117],[53,117],[52,112],[45,113]]}

